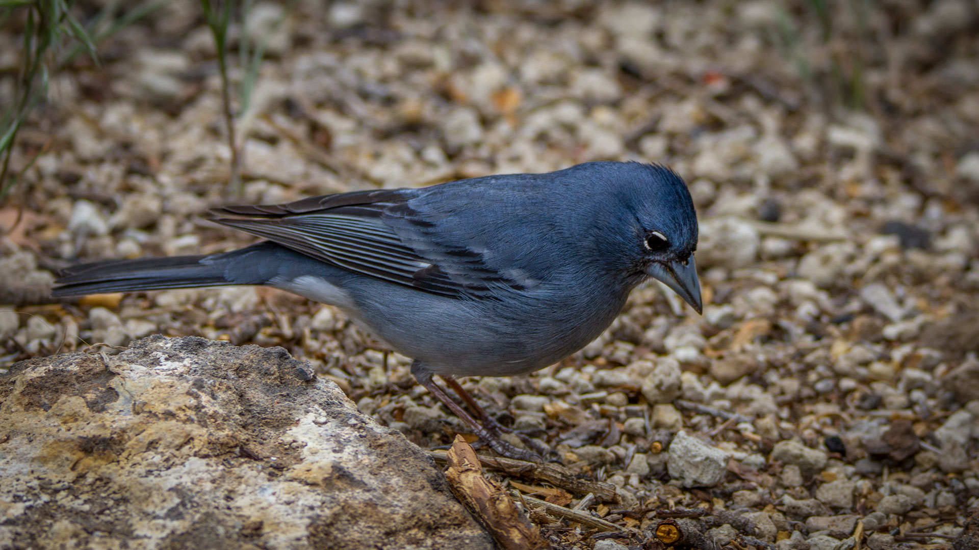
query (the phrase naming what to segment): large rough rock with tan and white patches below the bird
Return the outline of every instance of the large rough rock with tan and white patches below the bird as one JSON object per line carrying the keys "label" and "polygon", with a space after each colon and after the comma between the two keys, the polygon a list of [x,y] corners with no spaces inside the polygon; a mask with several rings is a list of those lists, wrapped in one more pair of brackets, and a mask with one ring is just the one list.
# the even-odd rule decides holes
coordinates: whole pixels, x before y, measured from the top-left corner
{"label": "large rough rock with tan and white patches below the bird", "polygon": [[421,449],[279,347],[23,361],[0,418],[0,547],[492,548]]}

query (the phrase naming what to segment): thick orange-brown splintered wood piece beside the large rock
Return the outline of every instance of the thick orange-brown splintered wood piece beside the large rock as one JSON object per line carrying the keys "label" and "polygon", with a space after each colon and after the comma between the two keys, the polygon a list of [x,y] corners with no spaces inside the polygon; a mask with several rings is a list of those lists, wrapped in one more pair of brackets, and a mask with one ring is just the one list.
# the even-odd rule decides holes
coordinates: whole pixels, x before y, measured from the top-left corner
{"label": "thick orange-brown splintered wood piece beside the large rock", "polygon": [[503,488],[486,479],[473,447],[460,435],[445,455],[445,479],[456,497],[482,520],[506,550],[543,550],[550,545]]}

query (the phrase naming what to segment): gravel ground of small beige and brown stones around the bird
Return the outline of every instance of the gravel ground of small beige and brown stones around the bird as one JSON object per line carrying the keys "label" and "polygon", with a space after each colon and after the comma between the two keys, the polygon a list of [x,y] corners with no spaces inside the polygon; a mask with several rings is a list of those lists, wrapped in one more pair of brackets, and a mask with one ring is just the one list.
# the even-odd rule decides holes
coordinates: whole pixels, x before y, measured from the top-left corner
{"label": "gravel ground of small beige and brown stones around the bird", "polygon": [[[640,547],[628,529],[671,508],[735,549],[949,547],[979,506],[979,7],[828,4],[820,25],[801,1],[259,2],[239,191],[209,30],[174,0],[53,78],[24,129],[13,166],[40,154],[0,206],[4,227],[23,206],[0,237],[8,301],[70,261],[250,242],[207,206],[664,162],[698,207],[704,315],[648,285],[561,364],[464,382],[623,495],[523,485],[614,536],[532,517],[568,548]],[[264,289],[0,307],[0,368],[154,333],[283,345],[423,447],[464,432],[406,358]]]}

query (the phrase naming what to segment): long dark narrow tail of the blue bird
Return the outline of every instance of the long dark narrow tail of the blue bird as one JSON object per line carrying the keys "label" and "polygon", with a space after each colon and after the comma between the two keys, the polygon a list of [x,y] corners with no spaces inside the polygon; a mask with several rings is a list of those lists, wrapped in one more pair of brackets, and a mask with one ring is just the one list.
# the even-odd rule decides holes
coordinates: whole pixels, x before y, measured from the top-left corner
{"label": "long dark narrow tail of the blue bird", "polygon": [[55,281],[60,286],[51,294],[70,297],[234,284],[224,276],[224,262],[214,259],[214,255],[183,255],[84,263],[63,270]]}

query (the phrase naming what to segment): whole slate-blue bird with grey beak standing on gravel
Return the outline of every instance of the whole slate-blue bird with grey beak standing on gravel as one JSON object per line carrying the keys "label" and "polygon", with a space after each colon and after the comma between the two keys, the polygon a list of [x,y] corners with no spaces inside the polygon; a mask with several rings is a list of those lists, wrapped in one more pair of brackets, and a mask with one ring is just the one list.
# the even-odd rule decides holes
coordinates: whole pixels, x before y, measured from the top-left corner
{"label": "whole slate-blue bird with grey beak standing on gravel", "polygon": [[[233,252],[70,267],[54,296],[264,285],[340,308],[414,361],[411,373],[496,452],[455,382],[551,365],[597,338],[648,277],[701,312],[697,217],[661,165],[586,162],[543,174],[224,206],[214,222],[266,241]],[[482,421],[452,400],[456,391]]]}

